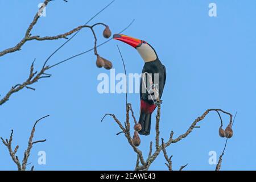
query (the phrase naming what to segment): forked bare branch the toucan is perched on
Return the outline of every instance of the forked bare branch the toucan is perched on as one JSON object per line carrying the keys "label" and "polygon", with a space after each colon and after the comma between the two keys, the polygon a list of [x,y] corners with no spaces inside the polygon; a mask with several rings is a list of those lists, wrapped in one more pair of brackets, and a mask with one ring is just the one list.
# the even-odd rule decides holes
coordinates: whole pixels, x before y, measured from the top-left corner
{"label": "forked bare branch the toucan is perched on", "polygon": [[[118,51],[120,53],[121,59],[122,59],[122,63],[123,63],[123,67],[125,68],[125,64],[123,61],[123,57],[122,57],[122,53],[119,49],[119,47],[117,46]],[[126,69],[125,69],[125,73],[126,73]],[[170,146],[171,143],[176,143],[179,142],[181,139],[187,137],[194,128],[199,128],[199,126],[196,126],[196,124],[198,122],[200,122],[201,120],[203,120],[205,118],[205,116],[210,112],[210,111],[216,111],[221,119],[220,113],[222,112],[224,114],[228,114],[230,116],[230,124],[232,123],[232,114],[221,110],[221,109],[208,109],[206,110],[203,115],[201,115],[200,117],[196,118],[195,121],[192,123],[192,125],[189,127],[189,129],[182,135],[180,135],[179,137],[177,137],[176,139],[173,139],[174,136],[174,132],[171,131],[170,134],[170,138],[168,140],[168,142],[164,143],[163,142],[163,138],[162,138],[162,144],[159,145],[159,135],[160,135],[160,131],[159,131],[159,123],[160,123],[160,110],[161,110],[161,104],[162,101],[160,101],[159,99],[156,100],[156,106],[158,107],[157,109],[157,113],[156,113],[156,126],[155,126],[155,130],[156,130],[156,135],[155,135],[155,152],[154,154],[152,154],[152,142],[150,142],[150,151],[147,157],[147,160],[145,162],[144,158],[143,158],[143,154],[142,151],[138,149],[137,146],[135,146],[133,144],[133,140],[131,139],[130,136],[130,122],[129,122],[129,111],[131,111],[131,115],[134,118],[134,123],[135,125],[137,124],[136,118],[134,116],[134,112],[133,109],[131,107],[131,104],[127,104],[127,94],[126,94],[126,121],[125,121],[125,126],[122,125],[122,123],[117,119],[117,117],[115,117],[114,114],[105,114],[104,117],[101,119],[101,122],[103,121],[103,119],[106,117],[106,115],[110,115],[113,117],[114,121],[118,124],[118,126],[120,127],[120,129],[122,130],[120,133],[124,133],[125,137],[127,138],[128,143],[130,144],[130,146],[133,148],[133,150],[137,153],[137,162],[135,165],[135,170],[148,170],[148,168],[150,167],[150,165],[152,164],[152,162],[154,162],[154,160],[157,158],[157,156],[159,155],[160,151],[163,150],[164,153],[164,157],[166,158],[168,164],[168,168],[172,169],[172,162],[171,162],[171,158],[168,158],[167,152],[166,152],[166,147]],[[222,126],[222,119],[221,119],[221,126]],[[135,131],[136,132],[136,131]],[[117,134],[117,135],[118,135]],[[139,165],[139,162],[141,162],[142,165]],[[180,171],[185,168],[188,164],[186,164],[185,166],[181,166],[180,167]]]}

